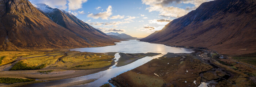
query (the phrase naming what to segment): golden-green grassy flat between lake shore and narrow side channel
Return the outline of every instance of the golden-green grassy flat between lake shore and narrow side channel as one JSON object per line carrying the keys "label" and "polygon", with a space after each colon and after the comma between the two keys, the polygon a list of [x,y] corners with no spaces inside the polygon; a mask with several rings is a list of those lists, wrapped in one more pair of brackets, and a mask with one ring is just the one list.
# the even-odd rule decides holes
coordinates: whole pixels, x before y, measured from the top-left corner
{"label": "golden-green grassy flat between lake shore and narrow side channel", "polygon": [[[68,53],[66,57],[57,63],[57,66],[72,69],[98,69],[109,66],[114,56],[101,53]],[[84,65],[75,67],[78,65]],[[86,66],[85,66],[86,65]]]}

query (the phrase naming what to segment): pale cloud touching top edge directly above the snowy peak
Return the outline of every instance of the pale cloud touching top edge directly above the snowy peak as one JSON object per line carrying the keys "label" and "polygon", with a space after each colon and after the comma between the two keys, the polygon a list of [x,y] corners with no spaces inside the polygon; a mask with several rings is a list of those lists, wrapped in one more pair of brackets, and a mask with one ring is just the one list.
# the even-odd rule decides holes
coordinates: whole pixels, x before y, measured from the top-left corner
{"label": "pale cloud touching top edge directly above the snowy peak", "polygon": [[38,4],[44,3],[52,8],[66,9],[67,0],[30,0],[31,3]]}

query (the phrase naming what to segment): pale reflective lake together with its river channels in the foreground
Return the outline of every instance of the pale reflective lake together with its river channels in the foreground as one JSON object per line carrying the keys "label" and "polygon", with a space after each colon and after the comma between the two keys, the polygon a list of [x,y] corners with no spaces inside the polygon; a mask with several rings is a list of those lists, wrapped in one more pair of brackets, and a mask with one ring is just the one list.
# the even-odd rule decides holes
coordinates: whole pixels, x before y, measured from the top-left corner
{"label": "pale reflective lake together with its river channels in the foreground", "polygon": [[[94,52],[94,53],[108,53],[108,52],[118,52],[115,54],[115,59],[120,58],[119,52],[121,53],[162,53],[153,57],[144,57],[138,59],[137,61],[130,63],[125,66],[115,67],[115,65],[111,66],[108,70],[101,71],[95,74],[90,74],[86,76],[80,76],[76,78],[62,79],[62,80],[54,80],[45,83],[37,83],[30,84],[26,87],[42,87],[42,86],[54,86],[64,83],[74,83],[83,80],[96,79],[94,82],[79,85],[78,87],[99,87],[105,83],[108,83],[108,80],[123,73],[128,70],[132,70],[138,66],[151,61],[154,58],[161,57],[167,53],[192,53],[193,50],[178,48],[178,47],[170,47],[161,44],[148,43],[148,42],[140,42],[137,40],[129,40],[129,41],[121,41],[117,42],[116,45],[113,46],[105,46],[105,47],[89,47],[89,48],[76,48],[70,49],[71,51],[81,51],[81,52]],[[118,63],[118,62],[116,62]],[[76,86],[77,87],[77,86]]]}

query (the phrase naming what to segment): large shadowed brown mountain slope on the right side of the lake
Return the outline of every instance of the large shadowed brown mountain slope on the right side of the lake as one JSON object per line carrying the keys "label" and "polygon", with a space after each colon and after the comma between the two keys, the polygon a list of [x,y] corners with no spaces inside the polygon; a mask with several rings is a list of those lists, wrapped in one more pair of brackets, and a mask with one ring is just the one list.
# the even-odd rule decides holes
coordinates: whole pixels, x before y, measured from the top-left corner
{"label": "large shadowed brown mountain slope on the right side of the lake", "polygon": [[227,55],[256,52],[255,0],[214,0],[140,41],[207,47]]}

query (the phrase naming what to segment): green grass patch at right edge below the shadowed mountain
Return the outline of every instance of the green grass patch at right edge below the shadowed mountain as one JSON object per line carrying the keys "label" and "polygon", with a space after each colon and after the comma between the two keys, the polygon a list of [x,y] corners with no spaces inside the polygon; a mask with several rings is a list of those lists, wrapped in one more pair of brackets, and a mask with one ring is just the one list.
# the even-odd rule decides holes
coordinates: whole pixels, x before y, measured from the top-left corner
{"label": "green grass patch at right edge below the shadowed mountain", "polygon": [[256,66],[256,57],[233,57],[237,61],[242,61]]}

